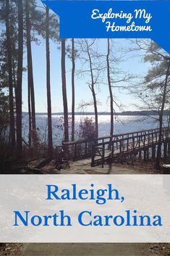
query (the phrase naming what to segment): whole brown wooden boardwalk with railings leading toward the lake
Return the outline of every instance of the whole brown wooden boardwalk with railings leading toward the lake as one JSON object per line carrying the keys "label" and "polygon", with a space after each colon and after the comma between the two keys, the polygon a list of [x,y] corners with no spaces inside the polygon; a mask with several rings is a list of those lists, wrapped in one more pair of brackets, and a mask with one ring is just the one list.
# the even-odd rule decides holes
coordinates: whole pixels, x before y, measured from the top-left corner
{"label": "whole brown wooden boardwalk with railings leading toward the lake", "polygon": [[[91,158],[91,166],[104,165],[105,162],[122,161],[129,157],[140,157],[144,160],[156,158],[156,149],[159,143],[159,129],[135,131],[132,133],[104,136],[91,141],[72,141],[63,143],[62,149],[67,160],[83,160]],[[161,132],[163,157],[170,153],[170,129],[165,127]],[[61,147],[56,148],[61,150]]]}

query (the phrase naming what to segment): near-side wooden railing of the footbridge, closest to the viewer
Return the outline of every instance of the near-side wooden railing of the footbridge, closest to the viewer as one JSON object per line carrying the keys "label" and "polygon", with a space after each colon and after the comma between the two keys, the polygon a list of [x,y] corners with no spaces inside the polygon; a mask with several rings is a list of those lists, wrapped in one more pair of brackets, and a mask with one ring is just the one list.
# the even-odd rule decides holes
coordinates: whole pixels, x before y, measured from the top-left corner
{"label": "near-side wooden railing of the footbridge, closest to the viewer", "polygon": [[[163,128],[161,133],[161,142],[168,143],[169,128]],[[152,147],[152,157],[156,155],[156,145],[158,144],[159,129],[146,131],[136,131],[132,133],[117,134],[110,141],[104,143],[95,143],[92,146],[91,165],[104,164],[106,161],[113,161],[114,158],[122,158],[126,155],[139,153],[143,151],[143,158],[148,154],[148,148]],[[165,152],[166,154],[165,145]]]}

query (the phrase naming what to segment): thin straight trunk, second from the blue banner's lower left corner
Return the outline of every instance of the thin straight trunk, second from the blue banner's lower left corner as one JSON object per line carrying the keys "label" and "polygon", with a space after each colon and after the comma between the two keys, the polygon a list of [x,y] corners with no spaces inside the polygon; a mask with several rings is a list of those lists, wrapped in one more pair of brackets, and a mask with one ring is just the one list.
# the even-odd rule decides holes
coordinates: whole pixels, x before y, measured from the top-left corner
{"label": "thin straight trunk, second from the blue banner's lower left corner", "polygon": [[75,40],[72,38],[72,141],[75,141]]}

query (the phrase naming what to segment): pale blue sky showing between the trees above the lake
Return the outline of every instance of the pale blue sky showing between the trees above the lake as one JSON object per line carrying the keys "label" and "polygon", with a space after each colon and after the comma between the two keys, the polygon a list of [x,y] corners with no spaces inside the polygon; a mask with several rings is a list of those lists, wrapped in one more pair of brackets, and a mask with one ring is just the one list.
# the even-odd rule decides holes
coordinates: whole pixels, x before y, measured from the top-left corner
{"label": "pale blue sky showing between the trees above the lake", "polygon": [[[41,5],[41,1],[38,3]],[[51,11],[52,12],[52,11]],[[126,39],[115,39],[116,44],[119,48],[126,48],[129,46],[129,41]],[[70,43],[70,39],[67,40],[67,44]],[[99,49],[106,51],[106,39],[101,39],[98,43]],[[76,47],[76,44],[75,44]],[[50,41],[50,53],[51,53],[51,105],[52,112],[63,112],[63,102],[61,93],[61,54],[59,44],[54,44]],[[35,86],[35,111],[36,112],[47,112],[46,102],[46,44],[45,40],[41,38],[41,44],[36,45],[32,43],[33,51],[33,77]],[[148,70],[148,64],[141,62],[140,57],[135,57],[133,54],[127,54],[124,58],[125,61],[121,63],[121,70],[135,75],[144,75]],[[26,65],[26,52],[25,52],[25,65]],[[67,99],[68,99],[68,110],[72,109],[72,88],[71,88],[71,60],[67,57],[66,59],[66,70],[67,70]],[[80,70],[80,61],[76,61],[76,69]],[[75,108],[78,109],[80,102],[89,102],[92,99],[90,89],[86,84],[87,79],[80,79],[76,76],[75,79]],[[109,111],[109,90],[107,85],[101,84],[99,88],[96,88],[97,99],[98,99],[98,111],[106,112]],[[124,111],[135,110],[133,104],[137,104],[137,99],[134,96],[129,95],[127,90],[119,91],[114,89],[114,96],[116,96],[117,102],[123,104]],[[23,74],[23,89],[22,89],[22,111],[27,111],[27,73]],[[116,111],[120,111],[116,105],[114,106]],[[90,106],[84,111],[92,111],[93,106]]]}

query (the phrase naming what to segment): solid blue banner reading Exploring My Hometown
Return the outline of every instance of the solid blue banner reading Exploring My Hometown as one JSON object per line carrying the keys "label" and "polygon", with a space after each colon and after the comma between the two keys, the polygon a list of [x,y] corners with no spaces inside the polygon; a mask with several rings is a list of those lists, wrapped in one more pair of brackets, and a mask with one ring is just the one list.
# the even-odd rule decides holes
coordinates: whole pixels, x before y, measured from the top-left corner
{"label": "solid blue banner reading Exploring My Hometown", "polygon": [[170,53],[170,1],[43,1],[60,38],[151,38]]}

